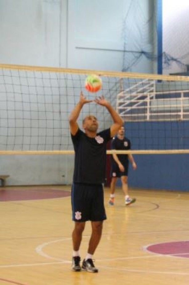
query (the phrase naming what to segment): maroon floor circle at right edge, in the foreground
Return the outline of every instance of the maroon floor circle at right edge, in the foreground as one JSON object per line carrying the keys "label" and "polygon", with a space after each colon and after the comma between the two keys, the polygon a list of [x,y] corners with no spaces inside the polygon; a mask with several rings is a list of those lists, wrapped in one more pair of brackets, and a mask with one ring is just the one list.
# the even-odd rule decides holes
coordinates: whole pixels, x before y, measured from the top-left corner
{"label": "maroon floor circle at right edge, in the foreground", "polygon": [[157,254],[189,258],[189,241],[157,243],[147,246],[146,249]]}

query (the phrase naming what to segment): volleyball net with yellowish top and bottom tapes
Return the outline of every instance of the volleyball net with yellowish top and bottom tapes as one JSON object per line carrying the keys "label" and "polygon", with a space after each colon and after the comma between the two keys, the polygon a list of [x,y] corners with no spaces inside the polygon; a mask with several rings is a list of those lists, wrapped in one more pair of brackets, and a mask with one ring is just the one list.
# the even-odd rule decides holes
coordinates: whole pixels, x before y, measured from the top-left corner
{"label": "volleyball net with yellowish top and bottom tapes", "polygon": [[[97,93],[85,89],[89,74],[102,79]],[[189,153],[189,77],[0,65],[0,154],[74,153],[68,117],[81,91],[90,100],[104,95],[117,110],[131,153]],[[92,102],[82,108],[81,128],[88,114],[99,131],[112,124]]]}

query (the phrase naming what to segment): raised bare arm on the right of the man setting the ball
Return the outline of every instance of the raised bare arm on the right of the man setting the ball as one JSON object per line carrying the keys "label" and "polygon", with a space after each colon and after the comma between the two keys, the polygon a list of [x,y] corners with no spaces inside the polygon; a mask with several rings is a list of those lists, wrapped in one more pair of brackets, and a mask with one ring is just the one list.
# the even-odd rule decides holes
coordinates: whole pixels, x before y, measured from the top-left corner
{"label": "raised bare arm on the right of the man setting the ball", "polygon": [[110,133],[111,133],[111,137],[114,137],[115,134],[118,132],[118,130],[123,126],[122,118],[115,111],[115,109],[110,105],[110,103],[104,99],[104,96],[96,98],[94,101],[99,105],[105,106],[108,112],[110,113],[114,121],[114,124],[112,124],[110,127]]}

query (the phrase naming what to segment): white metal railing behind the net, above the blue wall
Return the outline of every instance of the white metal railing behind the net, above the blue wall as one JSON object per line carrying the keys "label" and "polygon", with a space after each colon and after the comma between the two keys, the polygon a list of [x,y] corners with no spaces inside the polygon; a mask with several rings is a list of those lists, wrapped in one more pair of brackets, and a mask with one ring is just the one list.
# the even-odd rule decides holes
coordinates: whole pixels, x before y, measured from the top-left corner
{"label": "white metal railing behind the net, above the blue wall", "polygon": [[124,91],[117,95],[117,112],[124,121],[189,120],[189,90]]}

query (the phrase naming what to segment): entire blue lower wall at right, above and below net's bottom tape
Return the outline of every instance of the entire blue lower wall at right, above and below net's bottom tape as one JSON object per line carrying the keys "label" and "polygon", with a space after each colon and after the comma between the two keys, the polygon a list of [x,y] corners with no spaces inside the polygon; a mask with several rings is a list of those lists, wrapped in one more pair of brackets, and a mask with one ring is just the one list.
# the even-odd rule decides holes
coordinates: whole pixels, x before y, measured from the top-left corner
{"label": "entire blue lower wall at right, above and below net's bottom tape", "polygon": [[[132,149],[185,149],[189,145],[187,121],[137,122],[125,126]],[[189,154],[133,156],[137,170],[130,165],[129,186],[189,191]]]}

